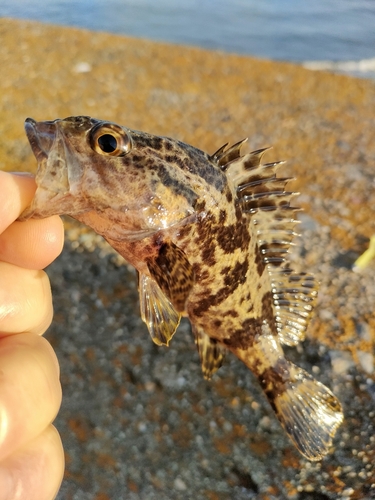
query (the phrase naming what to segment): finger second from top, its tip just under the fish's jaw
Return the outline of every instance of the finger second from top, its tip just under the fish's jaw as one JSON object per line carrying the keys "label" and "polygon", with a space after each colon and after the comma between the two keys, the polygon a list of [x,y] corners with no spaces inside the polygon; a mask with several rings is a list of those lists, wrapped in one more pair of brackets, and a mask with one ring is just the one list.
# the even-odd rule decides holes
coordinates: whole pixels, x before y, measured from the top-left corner
{"label": "finger second from top, its tip just under the fish's jaw", "polygon": [[26,269],[43,269],[62,250],[64,227],[58,216],[13,222],[0,234],[0,260]]}

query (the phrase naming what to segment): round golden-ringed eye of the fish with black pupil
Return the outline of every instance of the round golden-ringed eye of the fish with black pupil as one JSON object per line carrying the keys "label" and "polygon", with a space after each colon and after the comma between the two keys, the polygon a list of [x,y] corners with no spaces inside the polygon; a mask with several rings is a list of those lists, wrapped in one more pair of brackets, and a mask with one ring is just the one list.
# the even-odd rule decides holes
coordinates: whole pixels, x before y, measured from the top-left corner
{"label": "round golden-ringed eye of the fish with black pupil", "polygon": [[89,132],[91,148],[101,155],[124,156],[131,150],[131,138],[114,123],[99,123]]}

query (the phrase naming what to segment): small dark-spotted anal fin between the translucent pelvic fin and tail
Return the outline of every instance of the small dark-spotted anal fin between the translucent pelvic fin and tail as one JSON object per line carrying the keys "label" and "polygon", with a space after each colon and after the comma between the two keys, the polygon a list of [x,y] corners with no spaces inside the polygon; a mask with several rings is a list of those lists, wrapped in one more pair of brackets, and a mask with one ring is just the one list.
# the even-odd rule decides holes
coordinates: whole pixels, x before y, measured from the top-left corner
{"label": "small dark-spotted anal fin between the translucent pelvic fin and tail", "polygon": [[203,376],[209,380],[223,364],[225,348],[217,340],[210,338],[201,328],[192,326],[192,330],[201,360]]}

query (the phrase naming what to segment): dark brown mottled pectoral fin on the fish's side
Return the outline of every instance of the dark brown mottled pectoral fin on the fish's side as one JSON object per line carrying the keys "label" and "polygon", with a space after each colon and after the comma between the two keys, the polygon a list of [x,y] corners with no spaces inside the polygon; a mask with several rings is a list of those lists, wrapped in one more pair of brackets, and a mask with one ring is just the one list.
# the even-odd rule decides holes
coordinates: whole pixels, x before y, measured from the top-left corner
{"label": "dark brown mottled pectoral fin on the fish's side", "polygon": [[193,268],[185,253],[172,242],[163,243],[158,256],[148,261],[151,276],[179,313],[194,284]]}

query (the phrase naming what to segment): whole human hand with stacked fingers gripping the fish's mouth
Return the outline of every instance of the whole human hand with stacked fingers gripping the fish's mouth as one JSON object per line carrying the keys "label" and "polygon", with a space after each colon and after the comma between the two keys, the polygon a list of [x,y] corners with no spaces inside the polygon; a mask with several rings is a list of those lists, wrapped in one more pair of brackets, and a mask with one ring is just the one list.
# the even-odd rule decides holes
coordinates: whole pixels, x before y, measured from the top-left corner
{"label": "whole human hand with stacked fingers gripping the fish's mouth", "polygon": [[0,171],[0,500],[52,500],[64,469],[51,424],[59,367],[41,337],[53,313],[41,269],[61,252],[63,226],[57,216],[16,221],[35,188],[30,176]]}

